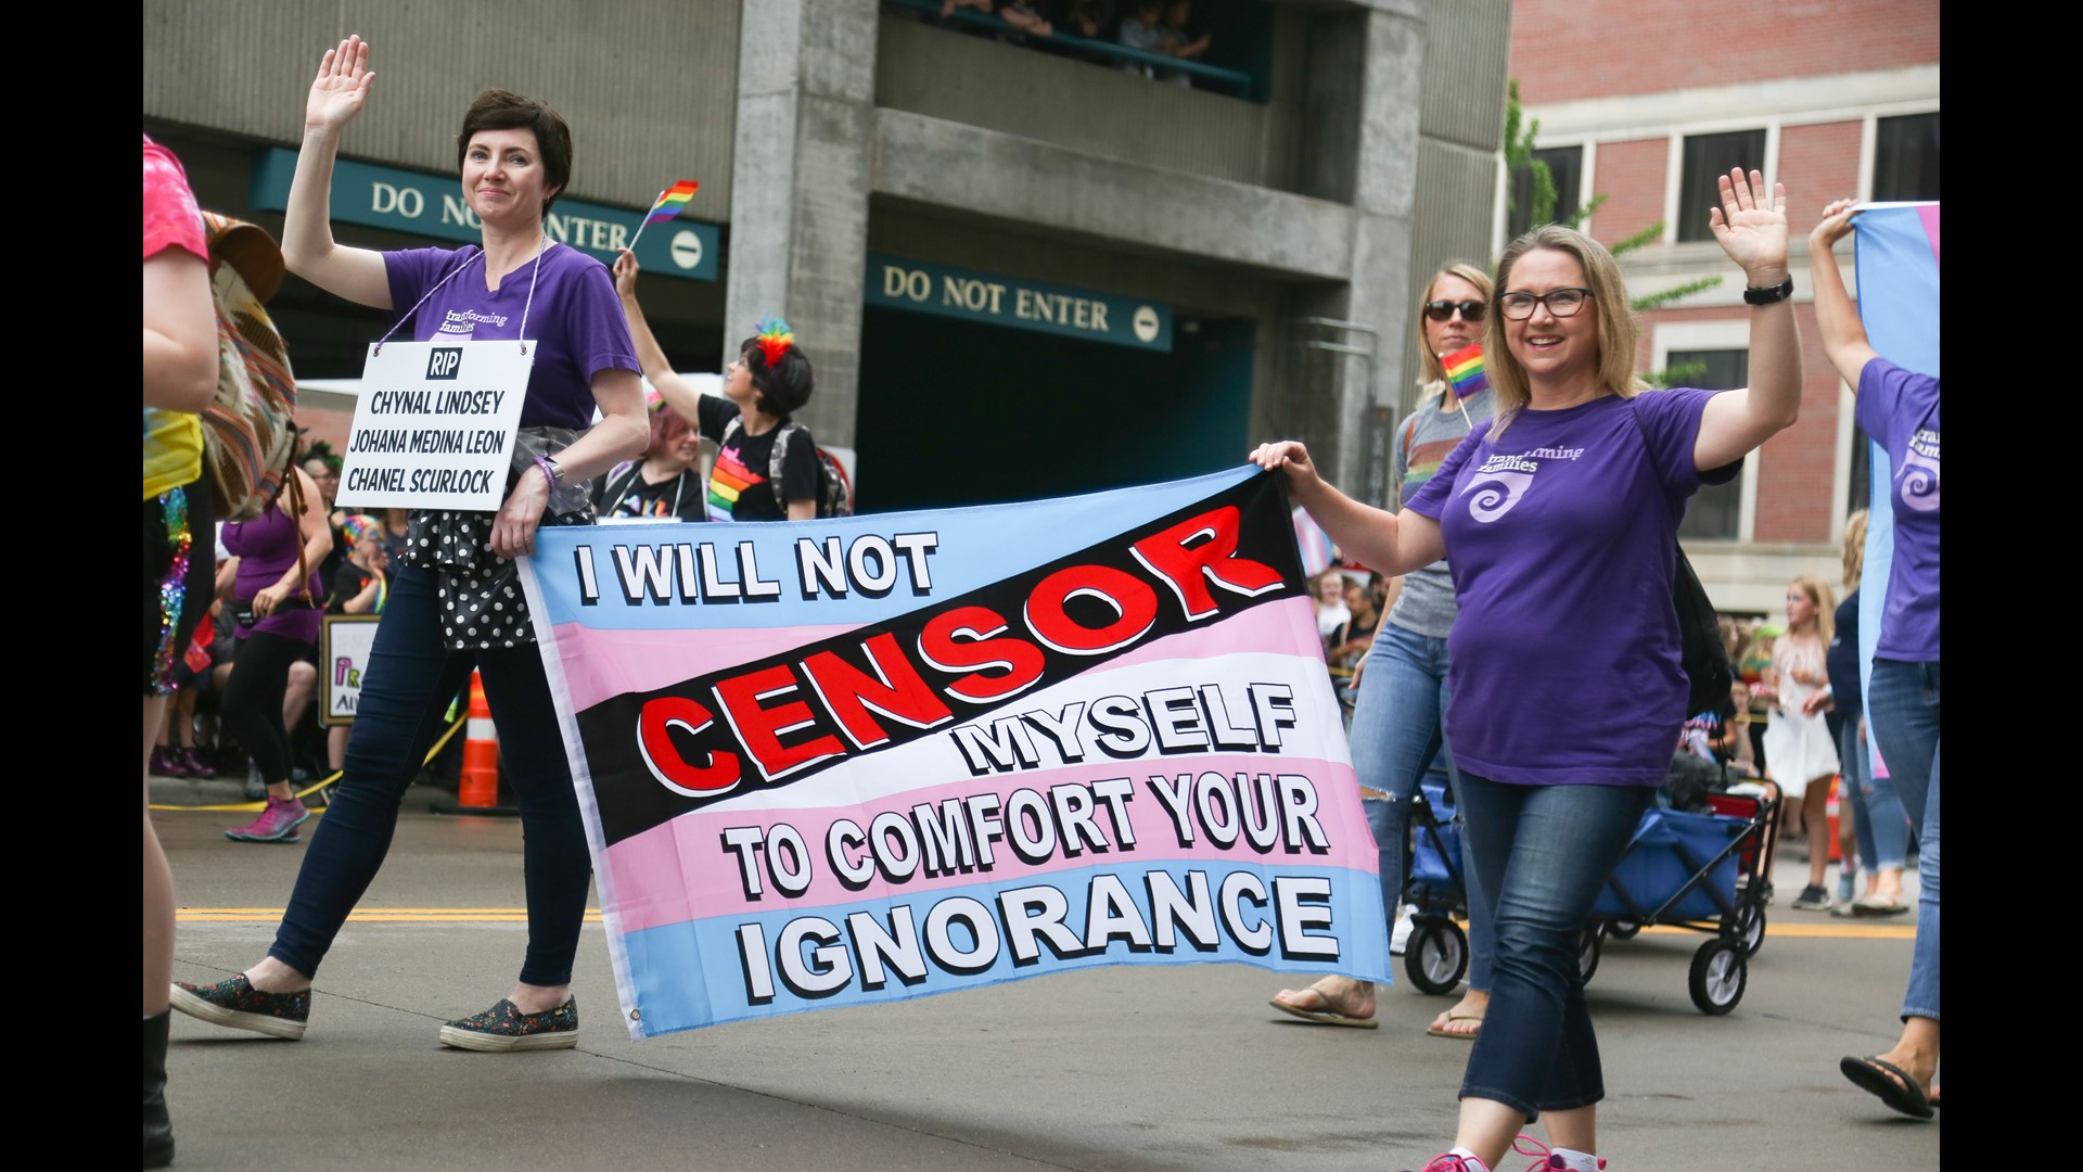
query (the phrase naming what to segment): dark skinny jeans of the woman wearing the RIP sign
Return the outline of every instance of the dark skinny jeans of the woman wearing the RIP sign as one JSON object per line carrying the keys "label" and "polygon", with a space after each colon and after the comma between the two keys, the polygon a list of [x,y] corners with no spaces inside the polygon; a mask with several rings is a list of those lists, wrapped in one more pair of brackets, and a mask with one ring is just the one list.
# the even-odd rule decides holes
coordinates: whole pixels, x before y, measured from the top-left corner
{"label": "dark skinny jeans of the woman wearing the RIP sign", "polygon": [[569,984],[579,951],[594,863],[571,788],[542,651],[450,651],[442,638],[435,578],[398,567],[377,624],[369,672],[348,738],[346,770],[304,849],[296,890],[269,955],[319,974],[348,911],[375,880],[398,830],[398,805],[446,726],[448,703],[477,667],[500,730],[500,776],[521,807],[521,868],[527,882],[523,984]]}

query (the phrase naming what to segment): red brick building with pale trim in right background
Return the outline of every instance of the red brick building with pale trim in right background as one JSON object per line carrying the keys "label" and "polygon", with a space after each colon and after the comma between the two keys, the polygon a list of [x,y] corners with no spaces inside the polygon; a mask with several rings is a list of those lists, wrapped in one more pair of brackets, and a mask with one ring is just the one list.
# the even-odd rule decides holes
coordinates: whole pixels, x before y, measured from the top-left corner
{"label": "red brick building with pale trim in right background", "polygon": [[[1539,156],[1560,190],[1558,217],[1606,202],[1583,227],[1614,244],[1658,221],[1623,257],[1631,290],[1723,275],[1718,288],[1643,313],[1646,369],[1704,367],[1691,386],[1743,386],[1748,311],[1735,269],[1708,234],[1714,179],[1756,167],[1787,184],[1796,313],[1802,321],[1802,419],[1756,453],[1743,478],[1702,492],[1685,544],[1716,605],[1777,613],[1796,573],[1835,582],[1846,515],[1866,500],[1864,438],[1852,394],[1814,334],[1808,231],[1823,204],[1939,198],[1937,0],[1833,0],[1710,10],[1675,0],[1519,0],[1510,73]],[[1527,190],[1521,177],[1514,184]],[[1498,200],[1498,244],[1525,227]],[[1852,275],[1850,244],[1839,263]]]}

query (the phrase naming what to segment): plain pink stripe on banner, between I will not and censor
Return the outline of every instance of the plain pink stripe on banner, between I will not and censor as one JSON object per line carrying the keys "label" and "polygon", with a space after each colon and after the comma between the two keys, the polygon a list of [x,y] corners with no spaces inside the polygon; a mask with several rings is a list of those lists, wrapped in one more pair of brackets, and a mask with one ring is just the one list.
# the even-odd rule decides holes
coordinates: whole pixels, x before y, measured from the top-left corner
{"label": "plain pink stripe on banner, between I will not and censor", "polygon": [[762,630],[589,630],[556,624],[554,630],[571,707],[581,711],[623,692],[664,688],[831,638],[854,630],[854,624]]}

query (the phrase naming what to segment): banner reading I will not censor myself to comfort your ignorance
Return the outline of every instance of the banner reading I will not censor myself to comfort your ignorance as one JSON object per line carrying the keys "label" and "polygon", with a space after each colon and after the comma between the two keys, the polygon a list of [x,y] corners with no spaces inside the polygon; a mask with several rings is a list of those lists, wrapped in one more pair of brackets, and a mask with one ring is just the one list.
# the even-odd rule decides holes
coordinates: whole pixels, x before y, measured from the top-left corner
{"label": "banner reading I will not censor myself to comfort your ignorance", "polygon": [[535,546],[631,1036],[1106,963],[1389,978],[1277,478]]}

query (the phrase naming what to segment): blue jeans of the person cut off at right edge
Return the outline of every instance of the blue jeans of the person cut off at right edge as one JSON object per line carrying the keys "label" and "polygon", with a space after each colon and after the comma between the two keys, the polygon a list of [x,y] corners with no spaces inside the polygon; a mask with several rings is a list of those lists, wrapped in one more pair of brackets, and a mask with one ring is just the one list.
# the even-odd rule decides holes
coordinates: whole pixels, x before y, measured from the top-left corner
{"label": "blue jeans of the person cut off at right edge", "polygon": [[1875,659],[1873,742],[1916,826],[1916,949],[1902,1018],[1939,1020],[1939,665]]}

